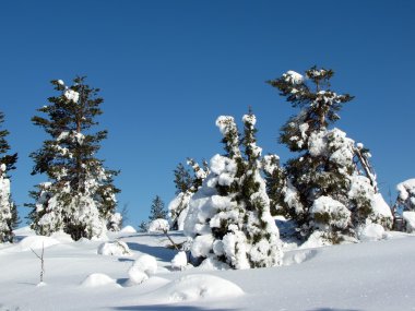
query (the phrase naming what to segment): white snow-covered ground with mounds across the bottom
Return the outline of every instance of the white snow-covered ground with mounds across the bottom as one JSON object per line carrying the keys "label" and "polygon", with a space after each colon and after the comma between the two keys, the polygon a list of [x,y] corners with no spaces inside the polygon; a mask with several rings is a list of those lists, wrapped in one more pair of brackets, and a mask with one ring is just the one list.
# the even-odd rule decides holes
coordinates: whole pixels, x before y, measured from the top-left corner
{"label": "white snow-covered ground with mounds across the bottom", "polygon": [[[173,270],[177,253],[162,234],[114,235],[123,243],[73,242],[17,230],[0,244],[0,310],[415,310],[415,237],[387,234],[377,242],[286,251],[273,268]],[[180,232],[171,232],[180,242]],[[39,285],[45,246],[45,284]],[[153,262],[151,256],[156,259]],[[140,278],[143,276],[142,278]],[[143,283],[140,284],[140,282]]]}

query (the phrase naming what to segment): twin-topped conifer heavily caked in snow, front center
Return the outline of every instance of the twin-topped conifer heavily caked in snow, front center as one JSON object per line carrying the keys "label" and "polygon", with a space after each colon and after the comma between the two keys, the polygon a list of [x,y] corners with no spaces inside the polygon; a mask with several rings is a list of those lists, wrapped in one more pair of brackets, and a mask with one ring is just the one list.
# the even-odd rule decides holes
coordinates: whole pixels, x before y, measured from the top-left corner
{"label": "twin-topped conifer heavily caked in snow, front center", "polygon": [[242,120],[242,137],[233,117],[216,120],[225,154],[212,157],[210,175],[191,198],[185,234],[200,262],[222,262],[233,268],[278,265],[280,235],[261,176],[256,117],[249,113]]}

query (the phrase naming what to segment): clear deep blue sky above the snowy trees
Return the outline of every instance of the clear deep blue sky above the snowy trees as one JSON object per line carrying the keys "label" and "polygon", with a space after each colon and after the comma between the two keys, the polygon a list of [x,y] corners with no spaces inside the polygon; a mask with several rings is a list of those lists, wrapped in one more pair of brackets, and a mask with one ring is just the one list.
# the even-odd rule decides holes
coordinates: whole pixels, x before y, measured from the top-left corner
{"label": "clear deep blue sky above the snowy trees", "polygon": [[220,115],[239,121],[251,106],[264,152],[290,157],[276,139],[297,111],[264,81],[317,64],[335,71],[333,89],[356,96],[336,127],[371,149],[389,201],[389,189],[394,196],[415,177],[414,13],[410,0],[3,1],[0,110],[20,157],[13,196],[22,206],[46,181],[29,175],[28,154],[45,139],[29,120],[54,95],[52,79],[87,75],[102,88],[109,136],[99,156],[121,170],[119,203],[137,226],[156,194],[174,198],[179,162],[222,152]]}

